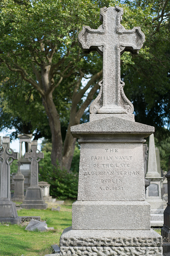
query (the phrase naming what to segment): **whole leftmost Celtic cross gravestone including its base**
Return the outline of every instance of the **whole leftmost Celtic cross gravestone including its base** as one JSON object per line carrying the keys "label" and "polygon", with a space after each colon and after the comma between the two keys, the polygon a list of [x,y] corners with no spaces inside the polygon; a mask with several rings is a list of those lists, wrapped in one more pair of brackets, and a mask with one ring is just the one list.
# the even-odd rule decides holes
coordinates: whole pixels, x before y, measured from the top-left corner
{"label": "whole leftmost Celtic cross gravestone including its base", "polygon": [[10,163],[18,159],[18,153],[10,148],[10,137],[0,137],[0,223],[20,224],[16,205],[10,199]]}

